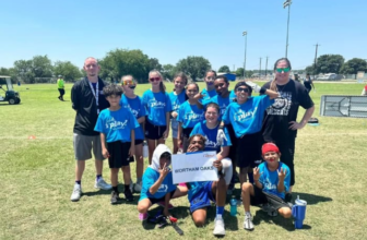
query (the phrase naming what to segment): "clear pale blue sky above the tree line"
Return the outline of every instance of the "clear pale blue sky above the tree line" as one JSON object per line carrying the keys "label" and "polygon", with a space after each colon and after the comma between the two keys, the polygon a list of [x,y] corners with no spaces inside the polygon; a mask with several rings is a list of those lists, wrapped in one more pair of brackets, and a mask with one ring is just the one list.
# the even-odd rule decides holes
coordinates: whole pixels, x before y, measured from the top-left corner
{"label": "clear pale blue sky above the tree line", "polygon": [[[202,56],[214,70],[268,69],[285,56],[284,0],[1,0],[0,67],[47,55],[83,65],[116,48],[141,49],[162,64]],[[318,56],[367,59],[366,0],[293,0],[288,58],[293,69]]]}

